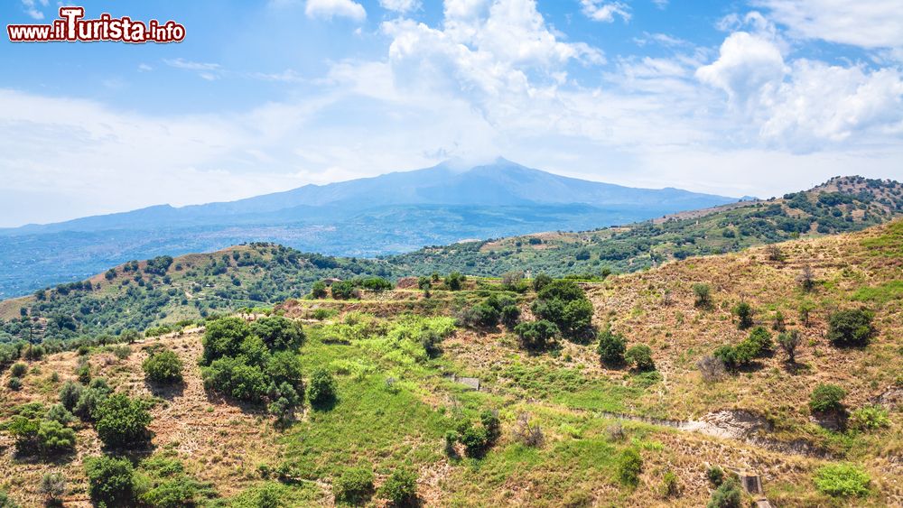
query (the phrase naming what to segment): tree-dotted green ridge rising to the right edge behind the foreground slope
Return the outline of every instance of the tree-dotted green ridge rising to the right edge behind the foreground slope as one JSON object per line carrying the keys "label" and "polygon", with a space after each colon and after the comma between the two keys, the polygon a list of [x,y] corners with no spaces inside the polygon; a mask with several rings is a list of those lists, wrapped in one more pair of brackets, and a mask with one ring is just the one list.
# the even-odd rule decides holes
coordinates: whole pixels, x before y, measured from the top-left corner
{"label": "tree-dotted green ridge rising to the right edge behind the foreground slope", "polygon": [[844,177],[780,199],[685,212],[580,233],[548,232],[427,247],[390,259],[399,272],[599,274],[674,259],[736,252],[797,237],[858,231],[903,214],[903,185]]}

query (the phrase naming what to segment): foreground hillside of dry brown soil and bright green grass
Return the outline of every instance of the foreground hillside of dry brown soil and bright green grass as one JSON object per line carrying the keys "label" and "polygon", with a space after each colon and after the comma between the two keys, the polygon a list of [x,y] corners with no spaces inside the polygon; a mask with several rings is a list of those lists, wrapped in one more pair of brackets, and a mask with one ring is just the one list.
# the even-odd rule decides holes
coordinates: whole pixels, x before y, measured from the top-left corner
{"label": "foreground hillside of dry brown soil and bright green grass", "polygon": [[[801,278],[806,267],[811,273]],[[202,329],[145,339],[128,352],[96,345],[81,355],[93,377],[150,407],[150,443],[129,456],[136,475],[173,494],[177,479],[178,485],[198,482],[180,492],[200,504],[259,505],[266,493],[281,505],[331,504],[340,478],[357,465],[372,471],[373,484],[362,495],[376,505],[386,503],[388,477],[409,470],[418,502],[429,506],[700,506],[714,490],[709,466],[759,478],[762,494],[742,494],[744,505],[753,498],[777,506],[898,505],[901,275],[903,222],[897,221],[582,283],[596,329],[610,327],[628,346],[650,346],[655,370],[645,372],[600,364],[595,339],[559,337],[548,348],[525,350],[517,334],[466,317],[489,297],[511,299],[522,320],[532,319],[539,295],[517,282],[506,287],[470,278],[452,291],[451,282],[440,280],[427,297],[404,280],[360,299],[288,300],[276,312],[303,323],[306,340],[297,357],[305,383],[326,366],[337,380],[337,398],[326,406],[305,403],[285,428],[264,406],[203,388]],[[694,302],[694,284],[710,288],[704,305]],[[775,346],[749,365],[703,380],[699,359],[750,335],[731,311],[741,300],[752,309],[751,326],[775,337],[780,312],[781,326],[801,334],[796,362]],[[805,322],[803,308],[809,309]],[[869,344],[833,345],[829,316],[861,308],[873,313]],[[424,342],[429,337],[440,342]],[[182,384],[144,381],[140,365],[161,346],[182,358]],[[78,356],[28,361],[18,391],[6,388],[11,374],[4,374],[3,425],[14,413],[38,411],[22,404],[53,402],[61,384],[76,378]],[[479,380],[479,390],[464,376]],[[847,393],[845,429],[832,429],[808,408],[818,383]],[[884,420],[860,426],[857,415],[872,406]],[[471,456],[461,442],[445,444],[462,421],[487,429],[479,423],[487,410],[498,411],[499,420],[488,448]],[[68,479],[66,503],[88,503],[85,459],[116,452],[101,448],[96,424],[71,425],[78,431],[76,451],[52,460],[15,456],[4,433],[2,486],[15,500],[40,503],[37,485],[54,470]],[[631,456],[640,466],[625,476],[624,457]],[[180,463],[183,473],[172,481],[158,477],[155,465],[163,459]],[[832,477],[827,472],[843,464],[869,477],[864,494],[829,494],[833,484],[816,488],[816,478]]]}

